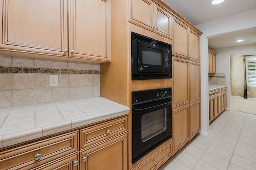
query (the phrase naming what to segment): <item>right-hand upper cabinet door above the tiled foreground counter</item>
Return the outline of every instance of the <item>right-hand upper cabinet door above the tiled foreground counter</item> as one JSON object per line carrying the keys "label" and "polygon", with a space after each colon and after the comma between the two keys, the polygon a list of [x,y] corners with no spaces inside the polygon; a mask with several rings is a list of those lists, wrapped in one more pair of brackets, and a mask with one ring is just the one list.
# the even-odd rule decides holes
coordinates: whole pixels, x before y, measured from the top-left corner
{"label": "right-hand upper cabinet door above the tiled foreground counter", "polygon": [[70,57],[110,61],[110,0],[71,0],[70,9]]}

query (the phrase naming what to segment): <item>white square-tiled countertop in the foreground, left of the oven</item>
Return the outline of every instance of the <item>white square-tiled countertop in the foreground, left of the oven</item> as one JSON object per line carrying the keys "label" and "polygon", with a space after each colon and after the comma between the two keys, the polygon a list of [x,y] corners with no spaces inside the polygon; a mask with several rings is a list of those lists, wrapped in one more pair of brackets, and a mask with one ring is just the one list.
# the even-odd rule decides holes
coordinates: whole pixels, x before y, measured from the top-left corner
{"label": "white square-tiled countertop in the foreground, left of the oven", "polygon": [[0,148],[129,113],[102,97],[0,108]]}

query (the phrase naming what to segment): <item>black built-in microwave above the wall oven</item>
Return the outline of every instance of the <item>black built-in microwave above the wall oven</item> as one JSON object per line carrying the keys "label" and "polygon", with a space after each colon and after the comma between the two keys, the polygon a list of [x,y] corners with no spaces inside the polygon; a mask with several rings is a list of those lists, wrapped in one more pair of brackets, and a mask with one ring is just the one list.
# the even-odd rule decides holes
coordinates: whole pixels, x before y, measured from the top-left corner
{"label": "black built-in microwave above the wall oven", "polygon": [[131,32],[132,80],[172,78],[172,45]]}

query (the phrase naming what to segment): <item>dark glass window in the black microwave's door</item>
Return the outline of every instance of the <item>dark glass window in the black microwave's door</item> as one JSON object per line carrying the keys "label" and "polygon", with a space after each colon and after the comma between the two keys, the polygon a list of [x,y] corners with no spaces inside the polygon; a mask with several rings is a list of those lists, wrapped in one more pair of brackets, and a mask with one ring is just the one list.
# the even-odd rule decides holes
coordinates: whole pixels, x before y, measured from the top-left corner
{"label": "dark glass window in the black microwave's door", "polygon": [[153,51],[142,51],[142,63],[162,66],[162,54]]}

